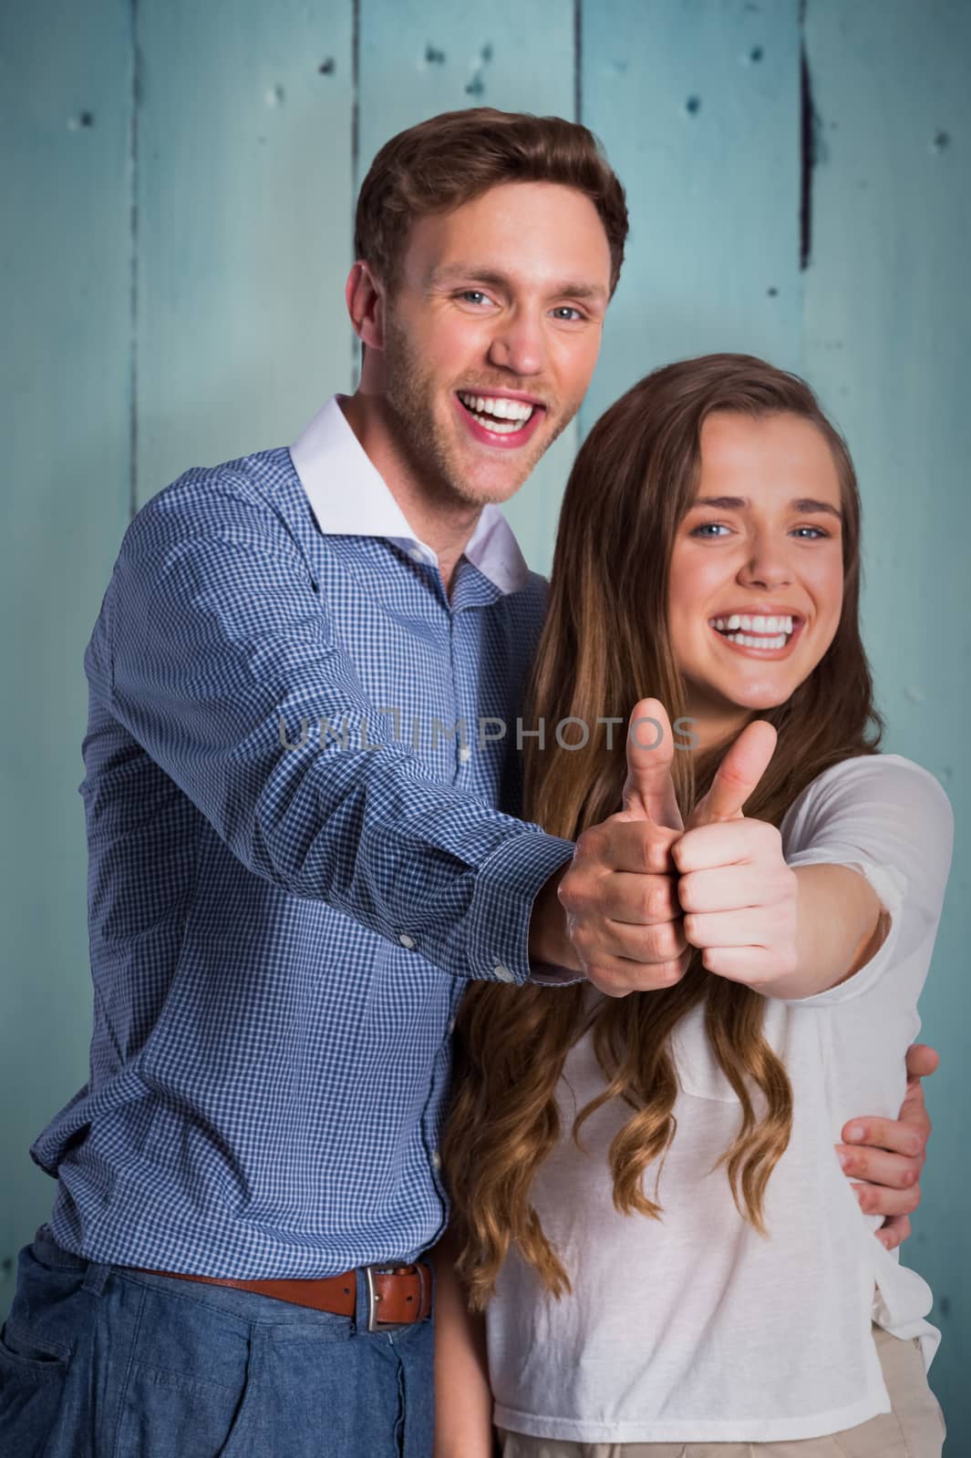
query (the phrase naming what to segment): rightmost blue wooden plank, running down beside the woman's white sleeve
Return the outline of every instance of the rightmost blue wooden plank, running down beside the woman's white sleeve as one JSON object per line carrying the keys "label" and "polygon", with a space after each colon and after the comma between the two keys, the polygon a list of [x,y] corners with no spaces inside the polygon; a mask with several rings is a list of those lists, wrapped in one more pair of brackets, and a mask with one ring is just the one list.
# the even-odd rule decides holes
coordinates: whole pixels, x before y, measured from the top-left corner
{"label": "rightmost blue wooden plank, running down beside the woman's white sleeve", "polygon": [[968,892],[964,771],[971,650],[968,245],[971,7],[965,0],[809,0],[816,109],[805,364],[846,430],[865,503],[865,636],[886,748],[943,783],[956,846],[923,1037],[942,1053],[924,1201],[905,1261],[935,1290],[932,1384],[951,1454],[971,1451],[965,1231]]}

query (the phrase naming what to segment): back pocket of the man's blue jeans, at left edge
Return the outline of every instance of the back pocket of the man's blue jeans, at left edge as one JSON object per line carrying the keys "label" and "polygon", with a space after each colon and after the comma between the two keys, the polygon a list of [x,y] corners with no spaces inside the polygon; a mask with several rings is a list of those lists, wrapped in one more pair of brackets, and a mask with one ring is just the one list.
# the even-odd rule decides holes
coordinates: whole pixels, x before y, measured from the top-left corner
{"label": "back pocket of the man's blue jeans, at left edge", "polygon": [[0,1328],[0,1433],[17,1458],[47,1452],[64,1395],[70,1347],[20,1321]]}

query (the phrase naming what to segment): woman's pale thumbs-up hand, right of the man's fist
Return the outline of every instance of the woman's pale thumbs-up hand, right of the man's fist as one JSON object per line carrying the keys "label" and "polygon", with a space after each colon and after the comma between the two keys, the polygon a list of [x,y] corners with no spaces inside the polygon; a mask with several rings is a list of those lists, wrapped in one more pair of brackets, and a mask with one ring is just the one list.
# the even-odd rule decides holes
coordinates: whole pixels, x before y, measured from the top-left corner
{"label": "woman's pale thumbs-up hand, right of the man's fist", "polygon": [[758,990],[796,971],[799,882],[784,862],[781,835],[765,821],[745,819],[749,798],[776,749],[764,719],[742,729],[707,795],[672,849],[679,872],[684,935],[703,949],[717,977]]}

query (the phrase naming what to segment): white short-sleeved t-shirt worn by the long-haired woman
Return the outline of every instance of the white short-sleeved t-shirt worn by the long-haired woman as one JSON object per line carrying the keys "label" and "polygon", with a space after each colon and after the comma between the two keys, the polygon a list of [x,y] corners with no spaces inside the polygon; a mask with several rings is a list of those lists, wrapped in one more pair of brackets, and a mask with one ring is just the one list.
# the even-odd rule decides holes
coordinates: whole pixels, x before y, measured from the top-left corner
{"label": "white short-sleeved t-shirt worn by the long-haired woman", "polygon": [[[895,754],[846,760],[809,784],[781,825],[790,866],[857,866],[891,916],[851,978],[768,999],[765,1035],[793,1088],[793,1130],[765,1191],[768,1239],[711,1166],[739,1124],[738,1099],[695,1007],[675,1029],[676,1133],[655,1191],[663,1222],[618,1215],[607,1150],[630,1110],[612,1101],[570,1137],[604,1086],[589,1034],[557,1089],[563,1136],[532,1191],[573,1293],[545,1295],[518,1252],[487,1314],[496,1423],[574,1442],[773,1442],[818,1438],[891,1410],[870,1321],[920,1337],[932,1293],[865,1216],[834,1145],[847,1120],[895,1118],[920,1028],[954,818],[937,780]],[[557,996],[554,991],[551,997]]]}

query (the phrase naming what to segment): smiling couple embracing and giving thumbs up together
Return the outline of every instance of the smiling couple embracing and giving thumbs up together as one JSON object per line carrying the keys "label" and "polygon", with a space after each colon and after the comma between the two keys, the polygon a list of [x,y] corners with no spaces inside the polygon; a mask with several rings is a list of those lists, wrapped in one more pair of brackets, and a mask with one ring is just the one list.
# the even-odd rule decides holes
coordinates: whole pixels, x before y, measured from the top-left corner
{"label": "smiling couple embracing and giving thumbs up together", "polygon": [[[85,655],[90,1075],[32,1149],[57,1194],[0,1341],[0,1451],[427,1455],[445,1165],[472,1296],[499,1277],[507,1445],[547,1417],[557,1441],[653,1441],[666,1403],[678,1448],[701,1422],[716,1451],[822,1410],[859,1426],[889,1406],[870,1312],[929,1354],[926,1292],[888,1255],[923,1163],[916,1079],[891,1115],[949,824],[927,776],[870,752],[838,437],[758,362],[653,376],[572,475],[548,615],[497,509],[580,405],[625,233],[582,127],[471,109],[394,137],[357,206],[357,394],[128,528]],[[748,607],[786,621],[746,631]],[[631,706],[637,738],[605,749]],[[525,787],[509,738],[468,742],[539,716],[590,742],[526,738]],[[484,1413],[465,1452],[488,1439],[478,1333],[436,1264],[439,1442]],[[789,1340],[803,1322],[825,1349],[779,1346],[749,1306],[767,1279]],[[748,1403],[733,1429],[717,1392],[691,1407],[709,1328],[717,1392]]]}

